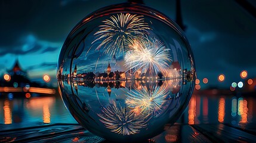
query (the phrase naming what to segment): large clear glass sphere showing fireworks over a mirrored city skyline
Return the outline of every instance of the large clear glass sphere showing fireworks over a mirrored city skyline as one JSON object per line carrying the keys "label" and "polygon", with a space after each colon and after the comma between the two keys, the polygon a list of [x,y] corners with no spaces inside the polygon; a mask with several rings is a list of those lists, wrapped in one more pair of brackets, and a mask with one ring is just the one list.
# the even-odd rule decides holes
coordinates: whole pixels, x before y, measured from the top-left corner
{"label": "large clear glass sphere showing fireworks over a mirrored city skyline", "polygon": [[152,138],[183,113],[195,64],[180,27],[138,4],[101,8],[69,33],[58,58],[64,104],[109,141]]}

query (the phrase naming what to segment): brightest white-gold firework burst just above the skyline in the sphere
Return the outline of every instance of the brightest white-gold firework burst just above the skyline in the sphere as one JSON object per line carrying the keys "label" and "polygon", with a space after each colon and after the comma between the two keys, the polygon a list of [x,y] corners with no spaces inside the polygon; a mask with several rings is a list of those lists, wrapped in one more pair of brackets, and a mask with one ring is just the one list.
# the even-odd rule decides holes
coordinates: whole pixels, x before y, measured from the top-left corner
{"label": "brightest white-gold firework burst just above the skyline in the sphere", "polygon": [[[131,48],[126,52],[124,57],[125,66],[133,71],[141,70],[141,73],[147,71],[155,71],[157,74],[160,71],[166,74],[166,68],[171,61],[171,55],[168,48],[165,48],[164,43],[157,39],[150,41],[149,39],[134,42],[129,41]],[[128,69],[128,70],[129,70]]]}

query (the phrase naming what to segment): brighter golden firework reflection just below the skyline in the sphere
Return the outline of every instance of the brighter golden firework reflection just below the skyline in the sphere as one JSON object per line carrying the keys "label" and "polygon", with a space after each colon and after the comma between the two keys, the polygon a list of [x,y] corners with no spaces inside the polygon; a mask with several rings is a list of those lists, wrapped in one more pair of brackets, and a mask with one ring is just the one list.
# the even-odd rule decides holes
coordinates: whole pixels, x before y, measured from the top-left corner
{"label": "brighter golden firework reflection just below the skyline in the sphere", "polygon": [[168,95],[166,86],[155,86],[153,91],[141,86],[141,90],[134,88],[135,91],[127,92],[127,100],[125,103],[131,108],[129,114],[138,116],[143,114],[144,117],[160,114],[162,105]]}

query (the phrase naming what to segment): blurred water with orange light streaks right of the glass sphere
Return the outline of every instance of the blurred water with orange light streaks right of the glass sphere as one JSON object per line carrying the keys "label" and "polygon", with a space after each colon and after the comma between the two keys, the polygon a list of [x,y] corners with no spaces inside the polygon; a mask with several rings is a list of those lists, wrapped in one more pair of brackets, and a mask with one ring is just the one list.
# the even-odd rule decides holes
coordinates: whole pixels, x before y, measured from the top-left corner
{"label": "blurred water with orange light streaks right of the glass sphere", "polygon": [[254,123],[255,101],[253,97],[192,95],[184,113],[185,123],[229,123],[234,126]]}

